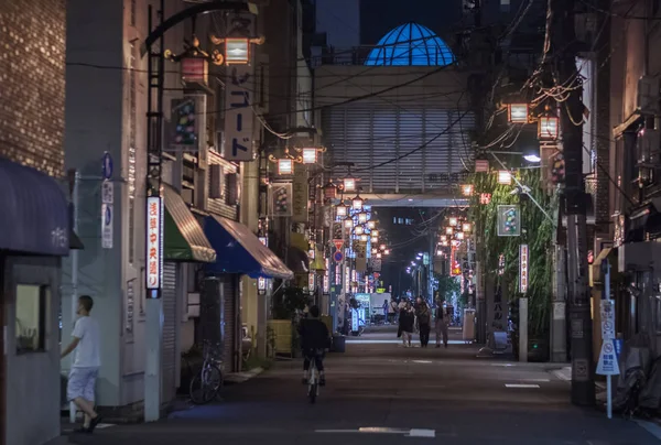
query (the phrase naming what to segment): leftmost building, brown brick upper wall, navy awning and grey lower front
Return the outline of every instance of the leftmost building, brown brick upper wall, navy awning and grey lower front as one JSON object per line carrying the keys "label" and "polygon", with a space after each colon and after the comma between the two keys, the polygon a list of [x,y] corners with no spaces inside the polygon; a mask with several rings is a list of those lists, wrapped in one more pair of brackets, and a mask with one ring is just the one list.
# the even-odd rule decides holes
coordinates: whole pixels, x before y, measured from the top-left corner
{"label": "leftmost building, brown brick upper wall, navy awning and grey lower front", "polygon": [[59,434],[59,270],[73,238],[63,181],[65,2],[3,2],[0,26],[11,48],[0,62],[0,444],[42,444]]}

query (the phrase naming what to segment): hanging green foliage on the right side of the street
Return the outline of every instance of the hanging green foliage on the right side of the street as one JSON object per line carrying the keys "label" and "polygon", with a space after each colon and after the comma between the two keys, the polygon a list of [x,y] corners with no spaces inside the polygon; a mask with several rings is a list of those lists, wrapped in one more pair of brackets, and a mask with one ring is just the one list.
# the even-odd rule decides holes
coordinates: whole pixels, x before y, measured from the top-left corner
{"label": "hanging green foliage on the right side of the street", "polygon": [[[541,188],[538,170],[521,170],[519,181],[531,188],[530,194],[551,216],[557,203]],[[476,173],[472,183],[475,194],[470,203],[470,218],[478,234],[477,256],[483,273],[498,276],[507,285],[510,300],[519,294],[519,246],[529,247],[529,333],[531,336],[544,336],[549,329],[549,311],[553,283],[552,242],[553,223],[525,195],[512,195],[512,186],[498,184],[494,173]],[[480,204],[481,193],[490,193],[491,202]],[[498,236],[499,205],[519,205],[521,210],[520,237]],[[505,271],[498,275],[498,260],[505,256]]]}

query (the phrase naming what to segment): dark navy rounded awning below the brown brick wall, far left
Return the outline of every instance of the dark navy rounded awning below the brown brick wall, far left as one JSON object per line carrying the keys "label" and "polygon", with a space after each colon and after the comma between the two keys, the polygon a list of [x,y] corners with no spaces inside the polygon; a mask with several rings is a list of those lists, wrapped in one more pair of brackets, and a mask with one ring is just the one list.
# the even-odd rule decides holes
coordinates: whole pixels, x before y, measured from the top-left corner
{"label": "dark navy rounded awning below the brown brick wall, far left", "polygon": [[44,256],[69,253],[68,204],[52,177],[0,159],[0,249]]}

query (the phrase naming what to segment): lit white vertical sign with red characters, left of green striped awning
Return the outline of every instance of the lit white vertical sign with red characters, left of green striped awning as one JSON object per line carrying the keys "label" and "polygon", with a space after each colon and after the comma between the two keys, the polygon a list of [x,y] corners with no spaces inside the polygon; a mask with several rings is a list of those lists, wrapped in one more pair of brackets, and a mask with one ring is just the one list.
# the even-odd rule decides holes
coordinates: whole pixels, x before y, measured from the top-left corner
{"label": "lit white vertical sign with red characters, left of green striped awning", "polygon": [[[163,279],[163,202],[160,196],[147,198],[147,289],[158,291]],[[158,292],[151,297],[160,296]]]}

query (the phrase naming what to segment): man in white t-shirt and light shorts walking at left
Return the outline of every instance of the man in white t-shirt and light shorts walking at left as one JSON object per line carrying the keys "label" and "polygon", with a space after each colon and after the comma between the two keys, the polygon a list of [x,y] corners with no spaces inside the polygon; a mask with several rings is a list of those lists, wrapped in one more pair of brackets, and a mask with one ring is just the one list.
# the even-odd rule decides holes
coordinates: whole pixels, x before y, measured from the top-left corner
{"label": "man in white t-shirt and light shorts walking at left", "polygon": [[85,423],[80,430],[91,433],[101,421],[101,416],[94,410],[94,392],[96,379],[101,366],[100,359],[100,332],[99,323],[89,316],[94,301],[89,295],[78,299],[78,319],[74,326],[72,336],[74,339],[62,352],[62,358],[68,356],[74,349],[76,355],[72,365],[66,398],[76,403],[76,406],[85,413]]}

